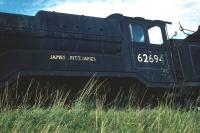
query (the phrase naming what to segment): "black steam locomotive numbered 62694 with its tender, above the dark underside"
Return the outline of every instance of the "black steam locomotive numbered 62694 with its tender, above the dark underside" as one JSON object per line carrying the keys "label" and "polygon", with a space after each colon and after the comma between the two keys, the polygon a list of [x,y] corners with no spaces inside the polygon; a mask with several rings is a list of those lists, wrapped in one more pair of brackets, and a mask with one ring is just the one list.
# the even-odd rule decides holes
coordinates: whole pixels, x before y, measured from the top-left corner
{"label": "black steam locomotive numbered 62694 with its tender, above the dark underside", "polygon": [[20,76],[128,77],[147,87],[200,86],[200,28],[169,39],[161,20],[39,11],[0,13],[0,84]]}

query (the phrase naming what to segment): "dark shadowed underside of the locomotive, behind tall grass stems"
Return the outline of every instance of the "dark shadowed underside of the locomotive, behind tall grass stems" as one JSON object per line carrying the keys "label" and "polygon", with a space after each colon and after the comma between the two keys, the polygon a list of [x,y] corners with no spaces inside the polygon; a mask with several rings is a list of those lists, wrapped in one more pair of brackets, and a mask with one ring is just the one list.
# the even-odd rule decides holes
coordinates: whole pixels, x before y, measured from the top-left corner
{"label": "dark shadowed underside of the locomotive, behind tall grass stems", "polygon": [[[199,92],[195,98],[183,96],[180,90],[149,89],[139,81],[121,78],[33,78],[19,79],[3,88],[0,108],[72,106],[87,103],[92,108],[155,108],[169,106],[176,109],[197,109]],[[177,95],[179,94],[179,95]]]}

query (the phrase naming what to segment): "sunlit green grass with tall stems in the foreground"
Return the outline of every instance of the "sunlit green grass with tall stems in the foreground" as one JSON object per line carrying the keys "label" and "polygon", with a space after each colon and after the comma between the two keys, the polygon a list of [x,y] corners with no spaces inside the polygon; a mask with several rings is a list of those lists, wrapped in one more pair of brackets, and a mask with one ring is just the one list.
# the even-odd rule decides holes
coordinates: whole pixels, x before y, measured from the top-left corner
{"label": "sunlit green grass with tall stems in the foreground", "polygon": [[[13,104],[13,95],[5,91],[1,98],[0,132],[63,132],[63,133],[199,133],[200,112],[168,105],[155,108],[112,105],[106,107],[97,89],[102,84],[90,81],[77,93],[70,104],[68,93],[56,91],[43,97],[40,93],[34,104],[28,104],[29,94]],[[93,88],[96,88],[94,90]],[[28,89],[27,92],[30,92]],[[90,99],[94,94],[95,98]],[[48,101],[48,106],[42,103]]]}

